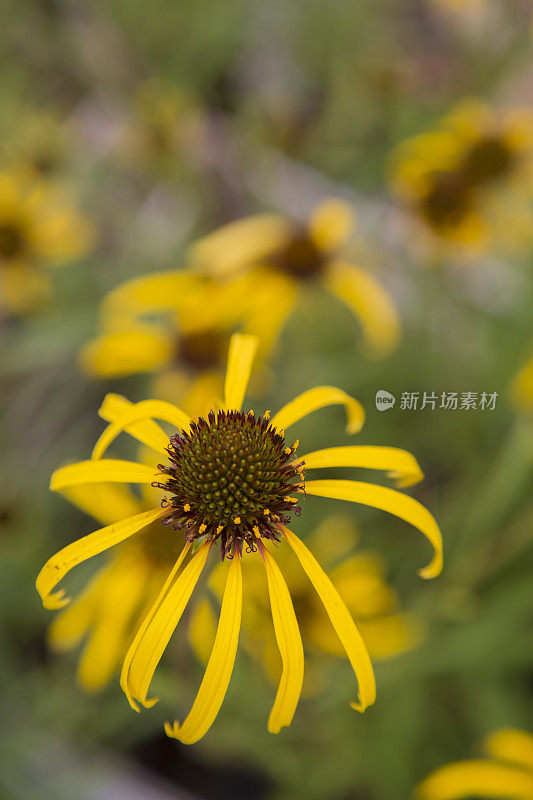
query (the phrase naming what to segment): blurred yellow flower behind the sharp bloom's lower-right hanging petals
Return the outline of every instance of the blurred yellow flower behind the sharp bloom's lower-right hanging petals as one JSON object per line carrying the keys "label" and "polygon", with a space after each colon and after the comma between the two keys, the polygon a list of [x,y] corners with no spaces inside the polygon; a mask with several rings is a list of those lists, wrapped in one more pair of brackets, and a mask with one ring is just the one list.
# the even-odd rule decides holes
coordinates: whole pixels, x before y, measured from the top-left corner
{"label": "blurred yellow flower behind the sharp bloom's lower-right hanging petals", "polygon": [[[328,517],[306,538],[306,544],[328,574],[353,616],[373,659],[387,659],[415,647],[422,637],[422,624],[399,608],[396,592],[385,580],[385,567],[374,552],[353,552],[358,535],[353,523],[343,516]],[[315,656],[327,653],[344,656],[342,645],[327,623],[323,608],[297,562],[285,549],[276,551],[276,560],[290,587],[302,640]],[[243,606],[243,644],[252,656],[262,659],[267,675],[279,681],[280,659],[268,617],[270,606],[261,564],[257,559],[243,559],[245,585],[248,588]],[[216,597],[224,587],[222,565],[213,570],[209,585]],[[206,661],[212,647],[215,612],[208,597],[191,614],[189,639],[201,661]],[[304,691],[319,684],[312,662],[306,671]]]}

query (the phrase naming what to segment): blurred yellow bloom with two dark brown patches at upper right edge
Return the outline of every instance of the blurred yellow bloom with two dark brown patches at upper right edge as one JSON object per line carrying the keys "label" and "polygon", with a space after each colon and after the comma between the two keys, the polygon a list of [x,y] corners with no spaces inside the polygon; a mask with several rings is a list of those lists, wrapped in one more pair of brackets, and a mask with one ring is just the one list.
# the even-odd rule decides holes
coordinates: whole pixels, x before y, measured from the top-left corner
{"label": "blurred yellow bloom with two dark brown patches at upper right edge", "polygon": [[[532,241],[533,111],[464,100],[393,153],[393,193],[435,241],[485,249]],[[497,189],[498,191],[494,191]]]}

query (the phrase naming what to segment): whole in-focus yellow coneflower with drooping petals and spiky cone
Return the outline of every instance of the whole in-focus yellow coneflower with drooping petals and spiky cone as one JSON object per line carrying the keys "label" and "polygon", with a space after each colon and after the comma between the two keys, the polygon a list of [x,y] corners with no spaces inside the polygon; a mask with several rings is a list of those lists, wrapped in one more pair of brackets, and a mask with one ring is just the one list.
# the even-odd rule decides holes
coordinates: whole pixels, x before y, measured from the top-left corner
{"label": "whole in-focus yellow coneflower with drooping petals and spiky cone", "polygon": [[[145,400],[105,409],[110,420],[98,439],[90,461],[67,467],[54,476],[54,487],[117,482],[152,484],[162,489],[161,506],[143,511],[67,545],[49,559],[37,578],[37,590],[47,608],[69,602],[65,590],[55,587],[72,567],[125,541],[159,520],[172,526],[185,545],[154,605],[139,627],[126,654],[121,686],[133,708],[150,707],[150,683],[176,628],[210,550],[217,547],[228,562],[220,619],[213,649],[192,709],[180,725],[165,726],[169,736],[192,744],[210,728],[230,681],[237,652],[242,611],[243,550],[259,553],[265,565],[276,640],[283,661],[281,680],[268,727],[277,733],[289,725],[303,680],[303,648],[281,570],[268,547],[286,542],[296,554],[319,595],[342,642],[358,682],[352,703],[364,711],[374,702],[376,687],[372,663],[353,619],[306,545],[287,527],[298,512],[298,496],[316,495],[362,503],[387,511],[417,527],[432,543],[434,555],[420,570],[425,578],[442,568],[442,537],[429,511],[412,497],[383,486],[352,480],[305,480],[305,469],[361,467],[386,470],[400,486],[421,478],[416,460],[407,452],[388,447],[334,447],[296,456],[297,443],[288,444],[285,431],[299,419],[328,405],[346,408],[348,430],[360,429],[360,404],[331,386],[310,389],[287,403],[270,419],[265,412],[241,410],[257,349],[254,337],[234,335],[230,342],[224,383],[224,402],[207,418],[192,419],[181,409],[158,400]],[[107,401],[104,403],[106,406]],[[173,425],[169,439],[155,419]],[[136,462],[105,459],[107,448],[126,431],[152,447],[163,458],[159,478]],[[185,562],[187,561],[186,565]],[[184,566],[185,565],[185,566]]]}

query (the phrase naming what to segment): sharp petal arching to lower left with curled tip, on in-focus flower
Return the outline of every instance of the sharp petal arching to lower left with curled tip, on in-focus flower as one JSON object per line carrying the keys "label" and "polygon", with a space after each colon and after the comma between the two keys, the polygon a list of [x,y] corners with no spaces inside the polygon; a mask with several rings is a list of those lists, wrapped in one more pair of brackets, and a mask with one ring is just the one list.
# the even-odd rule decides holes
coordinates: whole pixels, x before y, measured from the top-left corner
{"label": "sharp petal arching to lower left with curled tip, on in-focus flower", "polygon": [[35,583],[44,607],[62,608],[70,602],[70,598],[65,596],[64,589],[53,594],[52,590],[72,567],[98,555],[98,553],[103,553],[104,550],[108,550],[124,539],[128,539],[166,513],[168,512],[165,509],[152,508],[150,511],[143,511],[142,514],[129,517],[122,522],[114,522],[106,528],[100,528],[88,536],[83,536],[77,542],[68,544],[48,559]]}

